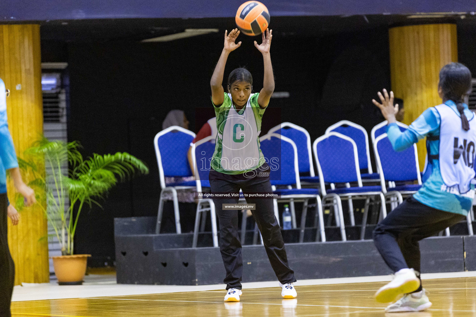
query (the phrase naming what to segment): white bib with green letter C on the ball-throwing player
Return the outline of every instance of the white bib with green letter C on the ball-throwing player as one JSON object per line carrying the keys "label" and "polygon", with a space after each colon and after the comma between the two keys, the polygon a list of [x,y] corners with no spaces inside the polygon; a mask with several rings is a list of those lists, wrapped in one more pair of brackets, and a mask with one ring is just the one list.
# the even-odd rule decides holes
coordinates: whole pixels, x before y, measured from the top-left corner
{"label": "white bib with green letter C on the ball-throwing player", "polygon": [[[228,94],[231,99],[231,94]],[[218,132],[222,140],[221,166],[228,171],[245,171],[258,166],[258,126],[251,108],[251,95],[243,114],[238,114],[234,106],[228,111],[223,134]]]}

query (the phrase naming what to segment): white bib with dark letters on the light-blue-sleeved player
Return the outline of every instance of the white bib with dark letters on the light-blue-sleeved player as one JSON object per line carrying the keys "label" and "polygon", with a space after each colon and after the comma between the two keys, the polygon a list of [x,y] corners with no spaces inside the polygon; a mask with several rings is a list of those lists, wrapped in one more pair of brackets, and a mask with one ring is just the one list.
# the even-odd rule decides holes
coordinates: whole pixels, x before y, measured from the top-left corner
{"label": "white bib with dark letters on the light-blue-sleeved player", "polygon": [[475,176],[476,120],[468,118],[469,130],[461,127],[461,118],[450,106],[435,106],[441,117],[439,163],[443,182],[455,194],[470,190]]}

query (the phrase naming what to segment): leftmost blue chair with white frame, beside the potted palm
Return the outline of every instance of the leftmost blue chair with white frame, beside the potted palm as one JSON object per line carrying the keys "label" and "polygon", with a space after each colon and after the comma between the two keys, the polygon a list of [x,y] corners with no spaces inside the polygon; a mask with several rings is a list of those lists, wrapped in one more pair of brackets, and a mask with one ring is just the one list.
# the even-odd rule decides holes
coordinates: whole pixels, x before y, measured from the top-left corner
{"label": "leftmost blue chair with white frame, beside the potted palm", "polygon": [[160,177],[160,200],[159,211],[157,212],[156,233],[160,233],[162,213],[164,210],[164,193],[171,192],[174,202],[175,228],[177,233],[182,233],[180,227],[180,214],[178,212],[177,191],[195,187],[195,181],[165,183],[165,177],[187,177],[192,176],[190,165],[187,159],[190,143],[195,138],[195,133],[180,126],[171,126],[160,131],[154,138],[155,155],[159,165]]}

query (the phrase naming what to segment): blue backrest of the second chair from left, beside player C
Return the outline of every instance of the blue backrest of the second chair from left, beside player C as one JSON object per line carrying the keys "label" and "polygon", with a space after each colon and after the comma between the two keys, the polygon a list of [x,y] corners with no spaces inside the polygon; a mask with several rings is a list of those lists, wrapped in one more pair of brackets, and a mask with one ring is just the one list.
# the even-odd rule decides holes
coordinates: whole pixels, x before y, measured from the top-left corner
{"label": "blue backrest of the second chair from left, beside player C", "polygon": [[215,152],[215,136],[209,135],[192,144],[192,161],[195,169],[197,192],[202,191],[201,181],[208,181],[210,163]]}

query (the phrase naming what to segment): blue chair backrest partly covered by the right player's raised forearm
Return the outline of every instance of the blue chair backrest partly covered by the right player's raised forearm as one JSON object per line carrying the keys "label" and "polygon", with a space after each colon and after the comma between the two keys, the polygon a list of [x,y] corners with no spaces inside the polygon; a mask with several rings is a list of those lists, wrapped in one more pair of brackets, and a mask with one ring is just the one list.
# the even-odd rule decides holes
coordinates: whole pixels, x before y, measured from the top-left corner
{"label": "blue chair backrest partly covered by the right player's raised forearm", "polygon": [[382,190],[386,181],[418,181],[421,185],[420,167],[418,165],[417,144],[404,151],[396,152],[387,134],[381,134],[374,143],[376,163],[380,170]]}

